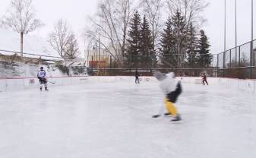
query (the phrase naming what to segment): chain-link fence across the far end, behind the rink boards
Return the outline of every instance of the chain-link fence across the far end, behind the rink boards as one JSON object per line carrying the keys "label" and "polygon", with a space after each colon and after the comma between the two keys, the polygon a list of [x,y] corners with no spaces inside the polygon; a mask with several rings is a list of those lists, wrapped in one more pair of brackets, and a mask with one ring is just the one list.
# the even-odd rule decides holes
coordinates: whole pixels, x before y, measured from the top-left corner
{"label": "chain-link fence across the far end, behind the rink boards", "polygon": [[[178,58],[179,55],[176,55]],[[185,60],[180,64],[181,68],[173,66],[166,60],[173,60],[173,55],[166,55],[163,60],[161,57],[150,55],[126,55],[117,62],[111,55],[90,55],[87,57],[88,73],[91,75],[115,76],[115,75],[134,75],[137,70],[141,75],[150,76],[153,71],[170,72],[173,71],[179,76],[199,76],[207,73],[208,76],[216,77],[217,55],[212,55],[211,65],[200,68],[197,65],[188,65]],[[184,57],[182,57],[184,58]]]}

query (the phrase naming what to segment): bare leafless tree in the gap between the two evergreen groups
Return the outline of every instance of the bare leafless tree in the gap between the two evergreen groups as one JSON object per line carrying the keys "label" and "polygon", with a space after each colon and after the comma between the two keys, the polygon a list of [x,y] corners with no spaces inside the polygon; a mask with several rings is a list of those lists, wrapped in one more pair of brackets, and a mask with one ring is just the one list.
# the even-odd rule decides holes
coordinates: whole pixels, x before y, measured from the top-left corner
{"label": "bare leafless tree in the gap between the two evergreen groups", "polygon": [[141,0],[141,5],[144,8],[144,13],[150,22],[150,27],[153,35],[153,50],[157,46],[157,40],[160,35],[160,18],[162,15],[163,0]]}

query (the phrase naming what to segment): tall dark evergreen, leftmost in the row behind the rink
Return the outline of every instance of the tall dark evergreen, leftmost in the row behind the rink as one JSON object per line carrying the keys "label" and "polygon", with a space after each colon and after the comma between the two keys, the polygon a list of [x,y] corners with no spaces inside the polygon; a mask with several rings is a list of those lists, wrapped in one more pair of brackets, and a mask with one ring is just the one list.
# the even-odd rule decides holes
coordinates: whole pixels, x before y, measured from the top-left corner
{"label": "tall dark evergreen, leftmost in the row behind the rink", "polygon": [[140,62],[140,26],[141,16],[135,11],[134,16],[131,18],[130,30],[128,31],[128,48],[125,53],[125,64],[130,68],[137,68]]}

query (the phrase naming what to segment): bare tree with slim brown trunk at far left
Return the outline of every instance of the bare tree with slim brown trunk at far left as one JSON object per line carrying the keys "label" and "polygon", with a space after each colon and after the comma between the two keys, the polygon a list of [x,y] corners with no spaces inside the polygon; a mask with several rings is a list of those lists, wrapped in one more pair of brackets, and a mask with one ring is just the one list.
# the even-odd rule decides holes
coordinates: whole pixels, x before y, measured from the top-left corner
{"label": "bare tree with slim brown trunk at far left", "polygon": [[17,33],[21,33],[21,59],[23,59],[23,38],[24,33],[30,33],[43,23],[36,19],[32,0],[12,0],[3,23]]}

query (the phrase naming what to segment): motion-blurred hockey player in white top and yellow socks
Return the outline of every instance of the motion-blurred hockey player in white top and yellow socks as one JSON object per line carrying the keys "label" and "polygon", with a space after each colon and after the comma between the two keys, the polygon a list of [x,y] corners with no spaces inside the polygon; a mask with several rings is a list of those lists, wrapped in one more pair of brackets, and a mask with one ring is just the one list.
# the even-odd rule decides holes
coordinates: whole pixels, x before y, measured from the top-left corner
{"label": "motion-blurred hockey player in white top and yellow socks", "polygon": [[[181,81],[177,81],[175,79],[175,74],[173,72],[169,74],[163,74],[161,72],[156,71],[153,74],[158,81],[160,81],[160,88],[165,93],[165,105],[168,113],[165,115],[172,115],[174,119],[172,122],[182,120],[181,116],[178,113],[178,110],[175,107],[175,104],[178,96],[182,93],[182,84]],[[160,113],[158,115],[153,115],[153,118],[158,118],[163,115],[164,107],[162,106],[160,109]]]}

